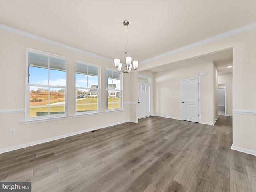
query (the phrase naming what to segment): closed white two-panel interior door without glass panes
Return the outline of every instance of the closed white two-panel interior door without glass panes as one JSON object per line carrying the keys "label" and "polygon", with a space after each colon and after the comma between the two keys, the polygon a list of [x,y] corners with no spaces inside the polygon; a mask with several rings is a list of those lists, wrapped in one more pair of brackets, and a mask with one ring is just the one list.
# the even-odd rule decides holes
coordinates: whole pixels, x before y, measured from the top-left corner
{"label": "closed white two-panel interior door without glass panes", "polygon": [[199,79],[182,80],[182,120],[199,122]]}

